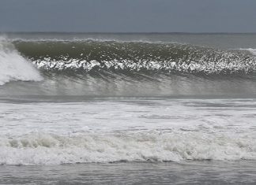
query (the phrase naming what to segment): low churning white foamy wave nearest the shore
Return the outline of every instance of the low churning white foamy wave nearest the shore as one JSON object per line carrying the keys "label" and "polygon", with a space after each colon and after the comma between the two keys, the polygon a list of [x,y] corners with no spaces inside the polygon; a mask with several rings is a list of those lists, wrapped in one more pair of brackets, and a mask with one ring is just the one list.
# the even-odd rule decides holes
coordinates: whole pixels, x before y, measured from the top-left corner
{"label": "low churning white foamy wave nearest the shore", "polygon": [[117,161],[256,160],[252,135],[139,131],[0,139],[0,164],[59,165]]}

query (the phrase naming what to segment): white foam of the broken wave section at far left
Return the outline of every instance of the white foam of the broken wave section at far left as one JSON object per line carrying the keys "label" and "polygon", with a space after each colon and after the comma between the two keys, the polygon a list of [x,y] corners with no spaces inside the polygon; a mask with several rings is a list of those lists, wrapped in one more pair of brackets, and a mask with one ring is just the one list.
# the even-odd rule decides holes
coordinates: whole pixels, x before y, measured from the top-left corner
{"label": "white foam of the broken wave section at far left", "polygon": [[11,43],[0,38],[0,85],[17,80],[40,81],[43,78]]}

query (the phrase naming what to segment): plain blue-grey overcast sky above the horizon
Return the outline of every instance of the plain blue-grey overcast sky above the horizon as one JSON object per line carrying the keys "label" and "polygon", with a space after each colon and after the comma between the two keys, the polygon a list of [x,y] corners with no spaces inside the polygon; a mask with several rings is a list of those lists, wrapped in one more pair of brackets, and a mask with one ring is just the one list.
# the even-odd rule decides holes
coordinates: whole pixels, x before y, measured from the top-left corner
{"label": "plain blue-grey overcast sky above the horizon", "polygon": [[0,0],[0,31],[256,32],[256,0]]}

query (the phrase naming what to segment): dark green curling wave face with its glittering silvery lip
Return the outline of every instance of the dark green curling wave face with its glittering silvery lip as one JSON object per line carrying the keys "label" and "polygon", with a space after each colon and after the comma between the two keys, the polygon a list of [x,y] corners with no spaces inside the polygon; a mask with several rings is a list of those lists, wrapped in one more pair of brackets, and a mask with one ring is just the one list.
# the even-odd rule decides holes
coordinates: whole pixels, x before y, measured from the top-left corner
{"label": "dark green curling wave face with its glittering silvery lip", "polygon": [[256,58],[248,51],[217,50],[177,43],[117,41],[21,41],[17,50],[46,71],[185,72],[250,74]]}

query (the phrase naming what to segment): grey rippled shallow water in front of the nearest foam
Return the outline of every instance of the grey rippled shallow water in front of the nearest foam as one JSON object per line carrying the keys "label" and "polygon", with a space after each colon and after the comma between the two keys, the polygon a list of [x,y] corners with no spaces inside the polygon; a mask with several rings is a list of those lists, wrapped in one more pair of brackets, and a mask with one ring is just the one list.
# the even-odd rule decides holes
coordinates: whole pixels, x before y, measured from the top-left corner
{"label": "grey rippled shallow water in front of the nearest foam", "polygon": [[2,184],[254,184],[254,161],[0,166]]}

